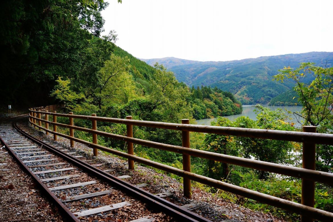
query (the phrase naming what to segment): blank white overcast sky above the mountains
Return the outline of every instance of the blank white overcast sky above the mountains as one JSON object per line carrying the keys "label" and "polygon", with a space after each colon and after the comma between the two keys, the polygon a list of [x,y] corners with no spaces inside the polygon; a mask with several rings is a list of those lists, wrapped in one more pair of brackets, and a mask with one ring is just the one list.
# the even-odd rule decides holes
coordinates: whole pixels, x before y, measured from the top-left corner
{"label": "blank white overcast sky above the mountains", "polygon": [[108,0],[105,32],[139,58],[227,61],[333,51],[333,1]]}

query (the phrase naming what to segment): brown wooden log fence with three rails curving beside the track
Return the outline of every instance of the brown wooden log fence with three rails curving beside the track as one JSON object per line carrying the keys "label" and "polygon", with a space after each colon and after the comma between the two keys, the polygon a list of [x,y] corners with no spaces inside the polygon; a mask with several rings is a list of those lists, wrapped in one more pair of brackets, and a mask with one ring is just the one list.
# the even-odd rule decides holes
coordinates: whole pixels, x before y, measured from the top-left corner
{"label": "brown wooden log fence with three rails curving beside the track", "polygon": [[[218,126],[202,126],[202,125],[191,125],[188,124],[187,120],[182,120],[183,124],[176,123],[164,123],[164,122],[152,122],[152,121],[141,121],[141,120],[132,120],[132,117],[127,117],[127,119],[117,119],[117,118],[108,118],[108,117],[97,117],[96,114],[92,116],[84,115],[73,115],[73,114],[63,114],[63,113],[53,113],[45,111],[36,111],[35,108],[29,109],[29,122],[48,133],[51,133],[56,136],[61,136],[74,141],[85,144],[94,149],[94,155],[97,155],[97,149],[109,152],[114,155],[118,155],[129,160],[129,168],[133,169],[132,163],[138,162],[143,163],[151,167],[155,167],[166,172],[182,176],[184,178],[184,196],[191,196],[190,181],[194,180],[215,188],[219,188],[231,193],[235,193],[246,198],[257,200],[262,203],[266,203],[272,206],[276,206],[297,214],[301,215],[301,221],[313,221],[314,219],[319,219],[323,221],[333,221],[333,213],[316,209],[314,208],[314,183],[321,182],[327,184],[333,184],[333,174],[328,172],[316,171],[314,170],[313,163],[315,161],[315,155],[313,155],[313,150],[316,144],[326,144],[333,145],[333,135],[332,134],[323,134],[315,133],[316,127],[303,127],[305,132],[290,132],[290,131],[279,131],[279,130],[263,130],[263,129],[248,129],[248,128],[235,128],[235,127],[218,127]],[[48,121],[46,119],[41,119],[36,117],[36,114],[45,114],[52,115],[55,118],[57,116],[68,117],[73,119],[86,119],[92,121],[92,129],[83,128],[74,126],[73,122],[70,122],[70,125],[57,123],[56,121]],[[54,118],[54,119],[55,119]],[[45,124],[52,124],[54,130],[44,128],[41,124],[36,124],[36,121],[43,122]],[[107,133],[97,130],[97,122],[111,122],[118,124],[127,125],[127,136]],[[155,127],[162,129],[171,129],[182,131],[183,143],[182,146],[174,146],[169,144],[157,143],[153,141],[147,141],[142,139],[133,138],[133,129],[132,126],[144,126],[144,127]],[[70,129],[70,135],[62,134],[57,132],[56,126],[65,127]],[[83,132],[91,133],[94,136],[93,143],[90,143],[85,140],[75,138],[72,132],[74,130],[79,130]],[[201,132],[201,133],[213,133],[221,135],[232,135],[232,136],[242,136],[242,137],[251,137],[258,139],[272,139],[272,140],[283,140],[283,141],[294,141],[303,143],[303,168],[300,167],[291,167],[282,164],[274,164],[269,162],[251,160],[246,158],[234,157],[229,155],[223,155],[213,152],[207,152],[202,150],[190,149],[189,144],[189,132]],[[185,161],[183,161],[183,169],[178,169],[175,167],[170,167],[161,163],[157,163],[151,160],[147,160],[141,157],[133,155],[133,150],[128,149],[128,153],[110,149],[97,144],[97,135],[113,138],[116,140],[122,140],[128,142],[129,146],[132,147],[133,144],[139,144],[147,147],[152,147],[156,149],[166,150],[170,152],[175,152],[183,155]],[[302,179],[302,194],[307,193],[309,195],[302,195],[302,204],[295,203],[289,200],[282,198],[277,198],[271,195],[263,194],[257,191],[246,189],[240,186],[228,184],[216,179],[212,179],[206,176],[198,175],[190,172],[190,156],[204,158],[213,161],[219,161],[223,163],[238,165],[242,167],[249,167],[258,170],[264,170],[268,172],[278,173],[282,175],[297,177]]]}

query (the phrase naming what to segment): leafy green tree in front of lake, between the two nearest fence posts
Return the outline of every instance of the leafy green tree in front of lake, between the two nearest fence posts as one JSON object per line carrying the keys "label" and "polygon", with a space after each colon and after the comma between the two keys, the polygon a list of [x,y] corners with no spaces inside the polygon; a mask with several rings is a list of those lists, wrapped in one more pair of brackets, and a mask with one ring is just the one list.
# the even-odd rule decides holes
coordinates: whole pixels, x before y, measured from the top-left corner
{"label": "leafy green tree in front of lake, between the two nearest fence posts", "polygon": [[[271,111],[268,108],[257,105],[257,121],[251,120],[248,117],[240,116],[233,122],[230,122],[226,118],[218,117],[216,123],[218,126],[228,127],[240,127],[240,128],[252,128],[252,129],[273,129],[273,130],[287,130],[293,131],[295,128],[285,122],[287,116],[282,110]],[[249,137],[230,137],[221,135],[207,134],[205,137],[205,146],[209,146],[207,149],[212,152],[218,152],[233,156],[242,156],[244,158],[254,158],[255,160],[290,164],[290,152],[293,149],[293,144],[287,141],[255,139]],[[237,152],[235,152],[236,150]],[[208,168],[211,166],[208,165]],[[219,168],[216,172],[218,176],[223,175],[224,178],[229,171],[226,170],[226,165],[215,163],[215,168]],[[218,165],[221,165],[218,167]],[[221,168],[222,167],[222,168]],[[213,175],[213,173],[212,173]],[[269,173],[265,171],[257,171],[259,179],[266,179]]]}

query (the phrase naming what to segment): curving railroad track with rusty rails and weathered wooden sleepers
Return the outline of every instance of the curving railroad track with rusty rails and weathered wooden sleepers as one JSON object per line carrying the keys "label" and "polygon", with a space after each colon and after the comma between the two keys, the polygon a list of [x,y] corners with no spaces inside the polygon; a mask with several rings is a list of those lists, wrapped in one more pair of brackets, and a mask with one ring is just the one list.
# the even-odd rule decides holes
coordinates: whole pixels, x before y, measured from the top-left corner
{"label": "curving railroad track with rusty rails and weathered wooden sleepers", "polygon": [[123,180],[126,175],[115,177],[108,173],[113,169],[102,170],[98,168],[101,164],[91,165],[82,161],[82,156],[76,152],[38,140],[16,124],[2,124],[0,140],[41,191],[56,204],[66,221],[87,221],[92,215],[107,221],[108,212],[126,215],[135,211],[129,210],[131,208],[142,209],[144,203],[150,208],[140,211],[142,215],[135,216],[138,219],[132,222],[158,219],[147,216],[153,214],[152,210],[163,212],[175,221],[210,221],[190,211],[197,208],[194,204],[175,205],[162,198],[169,193],[145,191],[140,187],[148,184],[130,184]]}

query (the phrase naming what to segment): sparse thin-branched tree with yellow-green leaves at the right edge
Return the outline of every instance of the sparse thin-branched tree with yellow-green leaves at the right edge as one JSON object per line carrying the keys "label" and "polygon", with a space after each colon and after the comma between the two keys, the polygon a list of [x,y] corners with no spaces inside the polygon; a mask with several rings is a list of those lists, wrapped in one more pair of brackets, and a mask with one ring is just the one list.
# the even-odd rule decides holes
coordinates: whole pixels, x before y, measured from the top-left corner
{"label": "sparse thin-branched tree with yellow-green leaves at the right edge", "polygon": [[[290,66],[279,70],[275,75],[277,81],[292,82],[297,92],[299,103],[303,106],[301,113],[294,113],[301,117],[302,125],[317,127],[318,133],[333,133],[333,67],[315,66],[314,63],[303,62],[300,67]],[[306,77],[314,78],[309,84],[304,83]],[[332,172],[333,147],[317,145],[316,167],[319,170]]]}

